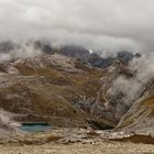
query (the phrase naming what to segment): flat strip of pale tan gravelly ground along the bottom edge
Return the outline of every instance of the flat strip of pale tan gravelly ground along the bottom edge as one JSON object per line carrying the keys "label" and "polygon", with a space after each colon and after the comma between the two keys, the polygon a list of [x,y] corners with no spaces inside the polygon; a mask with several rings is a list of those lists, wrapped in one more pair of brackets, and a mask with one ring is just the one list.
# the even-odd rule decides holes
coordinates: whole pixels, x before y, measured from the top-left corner
{"label": "flat strip of pale tan gravelly ground along the bottom edge", "polygon": [[120,142],[0,145],[0,154],[154,154],[154,145]]}

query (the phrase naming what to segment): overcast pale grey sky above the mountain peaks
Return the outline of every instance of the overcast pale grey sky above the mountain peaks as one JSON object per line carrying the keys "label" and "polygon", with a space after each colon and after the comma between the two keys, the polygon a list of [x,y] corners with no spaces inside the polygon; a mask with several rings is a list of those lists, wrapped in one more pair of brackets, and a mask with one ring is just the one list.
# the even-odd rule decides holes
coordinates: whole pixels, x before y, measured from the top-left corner
{"label": "overcast pale grey sky above the mountain peaks", "polygon": [[153,52],[154,0],[0,0],[0,38]]}

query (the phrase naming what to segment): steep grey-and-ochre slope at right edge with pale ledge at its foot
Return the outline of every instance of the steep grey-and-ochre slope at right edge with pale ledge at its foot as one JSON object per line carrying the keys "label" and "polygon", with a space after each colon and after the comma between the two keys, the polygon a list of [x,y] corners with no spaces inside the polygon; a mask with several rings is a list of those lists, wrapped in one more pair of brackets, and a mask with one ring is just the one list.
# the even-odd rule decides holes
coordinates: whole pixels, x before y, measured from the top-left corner
{"label": "steep grey-and-ochre slope at right edge with pale ledge at its foot", "polygon": [[[154,82],[148,80],[142,87],[139,98],[128,112],[121,117],[119,124],[111,132],[101,132],[102,138],[116,141],[154,144]],[[118,140],[117,140],[118,139]]]}

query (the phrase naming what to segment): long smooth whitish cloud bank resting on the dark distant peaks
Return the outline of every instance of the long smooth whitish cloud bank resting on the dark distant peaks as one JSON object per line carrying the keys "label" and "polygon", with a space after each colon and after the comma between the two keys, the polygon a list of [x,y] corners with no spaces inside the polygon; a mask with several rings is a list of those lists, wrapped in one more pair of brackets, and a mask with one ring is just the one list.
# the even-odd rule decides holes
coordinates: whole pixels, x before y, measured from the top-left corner
{"label": "long smooth whitish cloud bank resting on the dark distant peaks", "polygon": [[[82,45],[97,52],[102,57],[116,56],[118,52],[128,51],[138,53],[141,46],[138,42],[127,37],[116,37],[107,35],[78,34],[78,33],[56,33],[52,34],[52,44],[75,44]],[[58,40],[58,42],[57,42]]]}

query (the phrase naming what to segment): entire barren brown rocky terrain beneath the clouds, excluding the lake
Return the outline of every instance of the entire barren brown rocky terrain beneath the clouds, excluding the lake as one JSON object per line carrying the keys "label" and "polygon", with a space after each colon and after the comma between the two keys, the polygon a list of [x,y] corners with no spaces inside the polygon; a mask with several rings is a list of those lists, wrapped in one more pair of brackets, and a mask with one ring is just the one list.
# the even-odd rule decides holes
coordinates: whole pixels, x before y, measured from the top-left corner
{"label": "entire barren brown rocky terrain beneath the clouds, excluding the lake", "polygon": [[[31,48],[32,57],[0,63],[0,153],[154,153],[153,75],[129,64],[141,55],[103,59],[82,48],[31,46],[24,54]],[[25,123],[52,130],[28,133]]]}

